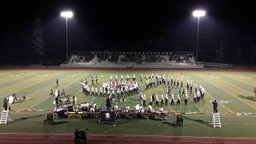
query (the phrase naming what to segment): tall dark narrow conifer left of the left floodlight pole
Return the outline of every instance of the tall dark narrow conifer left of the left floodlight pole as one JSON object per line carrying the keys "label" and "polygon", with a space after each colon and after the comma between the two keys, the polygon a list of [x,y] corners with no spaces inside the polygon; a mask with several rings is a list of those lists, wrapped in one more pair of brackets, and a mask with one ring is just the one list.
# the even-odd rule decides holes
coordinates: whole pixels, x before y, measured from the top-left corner
{"label": "tall dark narrow conifer left of the left floodlight pole", "polygon": [[38,59],[39,65],[42,65],[42,58],[45,55],[45,38],[42,34],[41,20],[38,14],[34,18],[32,49],[33,49],[34,56]]}

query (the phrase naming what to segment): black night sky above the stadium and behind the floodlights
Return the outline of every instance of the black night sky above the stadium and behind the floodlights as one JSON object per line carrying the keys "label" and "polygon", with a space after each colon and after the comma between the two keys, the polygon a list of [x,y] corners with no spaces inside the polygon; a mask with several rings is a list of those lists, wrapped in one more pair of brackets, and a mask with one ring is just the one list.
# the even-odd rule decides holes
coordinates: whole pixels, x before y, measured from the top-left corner
{"label": "black night sky above the stadium and behind the floodlights", "polygon": [[[30,50],[34,16],[42,18],[46,54],[65,54],[65,19],[59,12],[74,11],[69,20],[70,49],[73,50],[189,50],[196,40],[196,8],[206,10],[200,22],[200,50],[225,50],[256,45],[254,1],[234,0],[146,0],[76,1],[8,0],[1,26],[2,54]],[[152,41],[151,43],[149,41]]]}

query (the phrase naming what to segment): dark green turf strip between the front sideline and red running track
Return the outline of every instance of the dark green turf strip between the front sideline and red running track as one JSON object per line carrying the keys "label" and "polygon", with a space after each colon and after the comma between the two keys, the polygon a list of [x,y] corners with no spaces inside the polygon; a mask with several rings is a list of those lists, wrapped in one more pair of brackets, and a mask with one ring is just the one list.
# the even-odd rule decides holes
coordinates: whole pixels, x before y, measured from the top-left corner
{"label": "dark green turf strip between the front sideline and red running track", "polygon": [[[145,119],[118,119],[115,126],[100,125],[96,119],[61,119],[55,120],[54,125],[44,126],[42,119],[46,114],[12,114],[13,122],[0,126],[2,133],[43,133],[70,134],[74,128],[90,129],[90,134],[136,134],[136,135],[172,135],[200,137],[234,137],[254,138],[256,130],[255,116],[222,116],[222,128],[212,128],[210,114],[184,114],[183,127],[173,127],[176,118],[170,115],[167,121],[146,121]],[[238,131],[239,132],[238,132]]]}

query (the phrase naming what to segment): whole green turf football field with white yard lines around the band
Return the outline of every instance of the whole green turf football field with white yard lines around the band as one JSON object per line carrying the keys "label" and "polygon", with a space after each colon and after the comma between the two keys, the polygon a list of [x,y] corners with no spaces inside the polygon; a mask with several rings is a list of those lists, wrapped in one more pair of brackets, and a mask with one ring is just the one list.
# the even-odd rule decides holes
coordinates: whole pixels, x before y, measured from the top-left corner
{"label": "whole green turf football field with white yard lines around the band", "polygon": [[[46,110],[54,108],[54,99],[49,96],[50,90],[55,90],[55,80],[58,78],[58,90],[65,89],[66,94],[76,95],[78,103],[96,102],[98,106],[106,105],[106,98],[89,97],[82,94],[80,80],[90,75],[98,75],[98,84],[110,80],[110,75],[118,77],[126,74],[135,74],[137,78],[143,75],[166,74],[166,77],[183,78],[186,86],[186,79],[190,79],[206,89],[205,98],[193,104],[192,94],[188,106],[184,102],[180,106],[164,106],[164,110],[178,110],[184,114],[185,126],[173,128],[170,123],[174,116],[164,122],[119,119],[117,126],[97,125],[94,119],[89,120],[59,120],[57,125],[43,126],[42,121],[46,118]],[[139,78],[138,78],[139,81]],[[92,85],[90,84],[90,87]],[[0,71],[0,102],[10,94],[22,94],[26,92],[26,102],[11,104],[11,122],[8,126],[0,126],[0,131],[8,132],[39,132],[39,133],[71,133],[74,127],[90,127],[94,134],[164,134],[164,135],[198,135],[198,136],[229,136],[229,137],[254,137],[256,130],[256,102],[254,101],[254,87],[256,86],[256,72],[254,71],[232,71],[232,70],[1,70]],[[151,94],[166,93],[167,85],[155,86],[145,90],[145,81],[142,82],[142,93],[146,94],[147,103]],[[178,87],[172,87],[174,93],[178,93]],[[250,113],[250,115],[222,115],[222,128],[212,129],[210,123],[212,111],[211,101],[218,100],[218,111],[221,114]],[[222,102],[221,102],[222,101]],[[125,107],[127,104],[133,107],[138,102],[138,95],[126,98],[125,103],[118,104]],[[158,107],[154,108],[158,110]],[[38,110],[36,112],[35,110]],[[40,111],[40,112],[39,112]],[[240,130],[240,134],[236,130]],[[241,131],[242,130],[242,131]]]}

